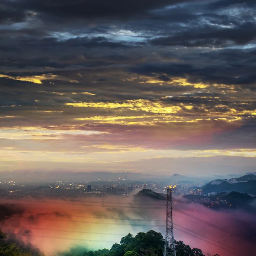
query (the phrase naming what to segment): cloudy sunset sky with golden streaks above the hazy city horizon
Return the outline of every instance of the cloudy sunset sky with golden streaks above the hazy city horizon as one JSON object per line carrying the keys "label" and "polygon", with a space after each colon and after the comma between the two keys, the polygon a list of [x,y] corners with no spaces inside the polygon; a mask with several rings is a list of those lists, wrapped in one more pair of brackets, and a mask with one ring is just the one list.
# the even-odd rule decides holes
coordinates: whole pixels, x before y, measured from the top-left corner
{"label": "cloudy sunset sky with golden streaks above the hazy city horizon", "polygon": [[0,171],[255,172],[254,0],[2,0]]}

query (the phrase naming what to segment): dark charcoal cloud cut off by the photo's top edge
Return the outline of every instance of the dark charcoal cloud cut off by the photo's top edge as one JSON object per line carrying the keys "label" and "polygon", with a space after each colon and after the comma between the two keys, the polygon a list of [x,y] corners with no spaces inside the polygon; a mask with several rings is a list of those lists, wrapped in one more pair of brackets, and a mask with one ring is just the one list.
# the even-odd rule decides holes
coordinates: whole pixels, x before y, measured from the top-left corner
{"label": "dark charcoal cloud cut off by the photo's top edge", "polygon": [[21,0],[15,3],[27,10],[63,19],[124,18],[143,15],[146,11],[161,8],[182,0]]}

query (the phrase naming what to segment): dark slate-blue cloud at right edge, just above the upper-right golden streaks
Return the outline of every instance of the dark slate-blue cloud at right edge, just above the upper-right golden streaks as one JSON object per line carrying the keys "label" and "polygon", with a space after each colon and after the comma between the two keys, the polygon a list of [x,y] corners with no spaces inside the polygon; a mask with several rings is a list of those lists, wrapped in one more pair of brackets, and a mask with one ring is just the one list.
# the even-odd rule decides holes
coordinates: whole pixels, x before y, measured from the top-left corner
{"label": "dark slate-blue cloud at right edge, just above the upper-right golden streaks", "polygon": [[[220,56],[220,52],[209,52],[204,53],[207,57],[214,58],[215,63],[210,63],[204,65],[203,67],[197,67],[195,64],[180,64],[180,63],[152,63],[152,64],[143,64],[140,66],[130,67],[129,70],[134,73],[141,75],[154,76],[154,73],[157,74],[167,74],[170,77],[183,77],[189,79],[191,82],[205,82],[208,84],[217,83],[217,84],[237,84],[244,87],[253,84],[255,81],[255,60],[252,63],[237,63],[236,55],[230,56],[232,51],[227,51],[226,55],[229,58],[233,59],[233,63],[230,62],[227,64],[224,56]],[[236,51],[237,54],[242,54],[243,51]],[[223,51],[225,54],[225,51]],[[249,52],[247,54],[250,58]],[[192,55],[193,56],[193,55]],[[213,57],[214,56],[214,57]],[[217,56],[220,56],[218,59]],[[252,58],[252,57],[251,57]],[[243,58],[241,58],[243,60]],[[222,61],[222,63],[221,63]],[[244,61],[247,61],[247,58],[244,58]],[[219,62],[219,63],[218,63]],[[189,61],[187,61],[189,63]],[[152,75],[153,74],[153,75]],[[251,87],[254,88],[253,86]]]}

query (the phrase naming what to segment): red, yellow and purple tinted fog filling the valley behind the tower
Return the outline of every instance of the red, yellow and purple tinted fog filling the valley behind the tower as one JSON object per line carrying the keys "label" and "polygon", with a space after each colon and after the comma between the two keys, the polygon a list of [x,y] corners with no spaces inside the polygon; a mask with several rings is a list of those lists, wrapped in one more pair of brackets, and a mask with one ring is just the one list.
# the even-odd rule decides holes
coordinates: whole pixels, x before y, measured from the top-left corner
{"label": "red, yellow and purple tinted fog filling the valley behind the tower", "polygon": [[[45,256],[57,256],[73,247],[110,249],[128,233],[135,236],[152,229],[164,235],[165,204],[164,200],[134,201],[133,195],[96,196],[84,201],[1,199],[0,229]],[[256,218],[251,213],[215,211],[175,200],[173,214],[175,239],[204,253],[234,256],[241,252],[249,256],[256,249]]]}

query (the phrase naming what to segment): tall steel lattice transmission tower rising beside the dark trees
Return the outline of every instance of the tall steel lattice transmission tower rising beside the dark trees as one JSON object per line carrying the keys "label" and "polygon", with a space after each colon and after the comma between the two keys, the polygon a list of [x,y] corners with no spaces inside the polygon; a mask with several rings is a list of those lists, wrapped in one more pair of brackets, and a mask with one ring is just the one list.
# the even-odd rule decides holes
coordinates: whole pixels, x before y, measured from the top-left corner
{"label": "tall steel lattice transmission tower rising beside the dark trees", "polygon": [[172,222],[172,186],[167,187],[166,199],[166,239],[163,256],[176,256]]}

